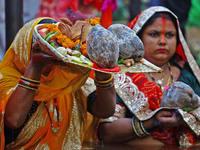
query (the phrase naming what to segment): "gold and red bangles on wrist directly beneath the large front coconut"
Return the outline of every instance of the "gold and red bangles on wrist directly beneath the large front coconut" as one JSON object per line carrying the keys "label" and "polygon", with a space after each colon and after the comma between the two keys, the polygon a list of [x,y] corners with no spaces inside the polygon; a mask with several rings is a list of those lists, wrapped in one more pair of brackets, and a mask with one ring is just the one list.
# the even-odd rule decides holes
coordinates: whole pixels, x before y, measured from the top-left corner
{"label": "gold and red bangles on wrist directly beneath the large front coconut", "polygon": [[114,77],[113,77],[113,74],[111,74],[111,77],[110,79],[108,80],[105,80],[105,81],[98,81],[96,80],[96,78],[94,77],[94,83],[97,87],[100,87],[100,88],[110,88],[114,85]]}

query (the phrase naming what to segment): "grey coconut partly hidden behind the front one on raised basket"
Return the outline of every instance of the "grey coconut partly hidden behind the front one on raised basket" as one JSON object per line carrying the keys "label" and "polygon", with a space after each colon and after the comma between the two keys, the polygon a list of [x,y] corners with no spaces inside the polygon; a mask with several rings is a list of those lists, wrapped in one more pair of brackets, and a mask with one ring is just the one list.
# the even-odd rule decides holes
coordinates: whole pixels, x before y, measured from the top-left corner
{"label": "grey coconut partly hidden behind the front one on raised basket", "polygon": [[113,24],[108,30],[116,35],[119,43],[118,64],[124,63],[130,67],[144,57],[144,45],[131,28],[123,24]]}

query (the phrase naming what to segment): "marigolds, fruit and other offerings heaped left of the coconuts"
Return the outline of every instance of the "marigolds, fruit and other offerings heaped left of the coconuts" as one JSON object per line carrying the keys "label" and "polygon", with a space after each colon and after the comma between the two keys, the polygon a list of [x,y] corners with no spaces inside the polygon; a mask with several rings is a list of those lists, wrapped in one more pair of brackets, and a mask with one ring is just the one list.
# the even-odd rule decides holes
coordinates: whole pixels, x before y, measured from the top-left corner
{"label": "marigolds, fruit and other offerings heaped left of the coconuts", "polygon": [[56,24],[39,24],[36,32],[64,60],[91,67],[93,63],[87,58],[86,38],[93,26],[100,23],[100,18],[77,20],[75,24],[66,18],[61,18],[61,21]]}

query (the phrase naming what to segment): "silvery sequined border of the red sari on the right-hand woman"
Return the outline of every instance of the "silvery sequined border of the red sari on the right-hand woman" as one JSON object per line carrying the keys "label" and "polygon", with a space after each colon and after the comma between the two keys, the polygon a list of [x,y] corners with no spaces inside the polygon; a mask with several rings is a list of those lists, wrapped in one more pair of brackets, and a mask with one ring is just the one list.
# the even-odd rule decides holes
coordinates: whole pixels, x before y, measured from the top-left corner
{"label": "silvery sequined border of the red sari on the right-hand woman", "polygon": [[[132,22],[129,23],[129,26],[131,26],[132,29],[136,33],[138,33],[140,29],[143,27],[143,25],[146,23],[146,21],[156,12],[168,12],[177,19],[177,17],[170,10],[161,6],[155,6],[155,7],[147,8],[146,10],[141,12]],[[178,23],[178,20],[177,20],[177,23]],[[200,83],[200,76],[199,76],[200,69],[198,65],[196,64],[196,61],[187,46],[187,43],[181,33],[180,28],[178,28],[178,34],[179,34],[182,50],[187,59],[187,62],[189,63],[198,82]],[[145,97],[145,95],[141,91],[139,91],[138,87],[132,82],[132,79],[125,74],[115,74],[115,88],[116,88],[117,94],[123,100],[123,102],[128,107],[128,109],[141,121],[151,118],[157,111],[161,109],[174,109],[174,108],[162,107],[162,108],[158,108],[152,111],[148,103],[148,97]],[[189,128],[196,134],[196,136],[199,136],[200,135],[200,130],[199,130],[200,129],[200,108],[197,108],[190,113],[185,112],[180,108],[176,108],[176,109],[181,114],[184,122],[189,126]],[[123,112],[123,113],[126,113],[126,112]],[[118,114],[118,108],[116,108],[114,116],[117,116],[117,114]],[[107,119],[104,119],[103,122],[105,121],[112,122],[114,120],[116,120],[116,118],[113,119],[113,117],[109,117]],[[179,139],[179,144],[187,145],[188,143],[189,143],[188,139],[183,134]]]}

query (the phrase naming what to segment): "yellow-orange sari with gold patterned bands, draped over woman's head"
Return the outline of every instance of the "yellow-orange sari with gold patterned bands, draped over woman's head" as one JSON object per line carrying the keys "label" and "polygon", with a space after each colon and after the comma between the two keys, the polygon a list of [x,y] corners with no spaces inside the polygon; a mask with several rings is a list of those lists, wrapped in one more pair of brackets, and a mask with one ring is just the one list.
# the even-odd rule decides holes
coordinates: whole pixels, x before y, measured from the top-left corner
{"label": "yellow-orange sari with gold patterned bands, draped over woman's head", "polygon": [[[41,76],[41,84],[35,95],[35,101],[39,101],[36,112],[15,141],[5,145],[5,106],[30,61],[34,26],[43,19],[50,18],[37,18],[20,29],[0,63],[1,149],[81,149],[85,138],[88,128],[86,97],[92,91],[85,92],[80,87],[87,80],[90,70],[70,65],[54,66],[47,77]],[[48,109],[44,101],[47,102]],[[50,119],[54,127],[58,127],[58,120],[60,122],[57,135],[51,131]],[[89,132],[87,135],[87,139],[92,136]]]}

